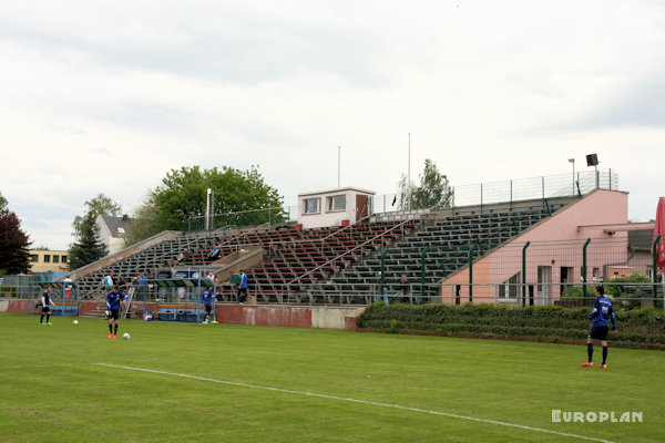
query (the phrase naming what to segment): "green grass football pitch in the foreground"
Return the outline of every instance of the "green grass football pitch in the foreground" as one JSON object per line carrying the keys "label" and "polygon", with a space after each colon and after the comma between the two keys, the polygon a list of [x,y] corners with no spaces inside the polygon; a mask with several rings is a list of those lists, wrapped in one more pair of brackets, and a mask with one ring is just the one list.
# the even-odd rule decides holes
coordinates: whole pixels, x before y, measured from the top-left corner
{"label": "green grass football pitch in the foreground", "polygon": [[602,370],[583,346],[72,320],[0,315],[0,441],[665,441],[663,351],[611,347]]}

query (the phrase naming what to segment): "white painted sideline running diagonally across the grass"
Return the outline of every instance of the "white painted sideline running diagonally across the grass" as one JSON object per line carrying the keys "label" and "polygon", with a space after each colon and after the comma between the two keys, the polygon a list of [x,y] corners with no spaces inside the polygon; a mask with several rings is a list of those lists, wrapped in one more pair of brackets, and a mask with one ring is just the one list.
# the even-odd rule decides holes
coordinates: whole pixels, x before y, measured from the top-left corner
{"label": "white painted sideline running diagonally across the grass", "polygon": [[474,416],[451,414],[449,412],[429,411],[429,410],[426,410],[426,409],[401,406],[399,404],[378,403],[378,402],[366,401],[366,400],[350,399],[350,398],[346,398],[346,396],[317,394],[315,392],[306,392],[306,391],[293,391],[290,389],[260,387],[258,384],[248,384],[248,383],[239,383],[239,382],[235,382],[235,381],[216,380],[216,379],[209,379],[207,377],[190,375],[190,374],[177,373],[177,372],[157,371],[157,370],[154,370],[154,369],[125,367],[125,365],[122,365],[122,364],[111,364],[111,363],[96,363],[96,364],[103,365],[103,367],[109,367],[109,368],[120,368],[120,369],[129,369],[129,370],[132,370],[132,371],[143,371],[143,372],[151,372],[151,373],[163,374],[163,375],[182,377],[182,378],[185,378],[185,379],[193,379],[193,380],[208,381],[208,382],[213,382],[213,383],[229,384],[229,385],[233,385],[233,387],[263,389],[265,391],[283,392],[283,393],[287,393],[287,394],[308,395],[308,396],[316,396],[316,398],[319,398],[319,399],[339,400],[339,401],[346,401],[346,402],[352,402],[352,403],[369,404],[369,405],[372,405],[372,406],[392,408],[392,409],[399,409],[399,410],[411,411],[411,412],[422,412],[422,413],[426,413],[426,414],[443,415],[443,416],[448,416],[448,418],[451,418],[451,419],[461,419],[461,420],[470,420],[470,421],[480,422],[480,423],[498,424],[500,426],[509,426],[509,427],[523,429],[523,430],[526,430],[526,431],[544,432],[544,433],[548,433],[548,434],[570,436],[570,437],[573,437],[573,439],[589,440],[589,441],[592,441],[592,442],[613,443],[610,440],[594,439],[594,437],[585,436],[585,435],[569,434],[569,433],[565,433],[565,432],[552,431],[552,430],[546,430],[546,429],[542,429],[542,427],[525,426],[523,424],[514,424],[514,423],[500,422],[500,421],[495,421],[495,420],[485,420],[485,419],[478,419],[478,418],[474,418]]}

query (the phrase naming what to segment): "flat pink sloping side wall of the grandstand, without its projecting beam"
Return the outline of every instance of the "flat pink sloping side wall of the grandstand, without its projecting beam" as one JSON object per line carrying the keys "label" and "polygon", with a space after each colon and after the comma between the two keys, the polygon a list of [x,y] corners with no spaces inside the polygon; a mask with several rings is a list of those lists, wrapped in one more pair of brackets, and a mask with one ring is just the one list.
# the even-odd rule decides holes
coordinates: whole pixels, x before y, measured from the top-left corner
{"label": "flat pink sloping side wall of the grandstand, without its projecting beam", "polygon": [[[604,231],[603,227],[593,227],[593,225],[626,224],[628,222],[627,214],[628,195],[623,192],[605,189],[596,189],[560,209],[553,216],[473,264],[473,301],[494,302],[497,300],[497,284],[507,281],[522,271],[522,249],[526,241],[531,243],[526,248],[526,284],[536,285],[539,282],[539,267],[542,267],[541,279],[546,278],[550,285],[546,286],[546,289],[541,287],[540,289],[543,291],[541,293],[543,296],[546,293],[550,299],[556,299],[561,296],[562,272],[569,274],[566,281],[570,284],[582,281],[583,245],[587,238],[591,238],[592,241],[587,248],[586,278],[587,282],[593,284],[593,269],[597,268],[598,277],[602,276],[603,266],[607,265],[606,257],[611,256],[612,261],[625,261],[628,255],[628,234],[626,231],[616,231],[614,235],[610,235]],[[579,228],[580,226],[592,227]],[[608,239],[610,241],[600,243],[598,239]],[[443,302],[454,299],[457,285],[461,285],[461,301],[468,301],[468,266],[442,281]],[[518,298],[521,300],[521,289],[519,289]]]}

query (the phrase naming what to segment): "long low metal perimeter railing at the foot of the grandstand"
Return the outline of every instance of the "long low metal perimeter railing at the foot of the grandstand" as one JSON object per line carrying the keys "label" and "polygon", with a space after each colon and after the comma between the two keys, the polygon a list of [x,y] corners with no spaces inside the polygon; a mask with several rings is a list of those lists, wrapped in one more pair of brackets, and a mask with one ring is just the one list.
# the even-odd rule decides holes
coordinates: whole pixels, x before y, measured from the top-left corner
{"label": "long low metal perimeter railing at the foot of the grandstand", "polygon": [[[596,284],[601,284],[600,281]],[[402,291],[400,281],[387,281],[382,286],[388,288],[386,296],[378,293],[378,278],[367,290],[352,289],[352,284],[339,284],[335,290],[310,289],[304,292],[284,290],[272,291],[270,301],[264,301],[260,291],[252,289],[249,282],[249,296],[256,297],[257,305],[289,305],[289,306],[367,306],[380,301],[386,297],[389,303],[448,303],[448,305],[464,305],[468,303],[470,287],[468,285],[441,285],[426,284],[412,280],[407,292]],[[595,299],[593,293],[587,297],[559,297],[556,287],[560,282],[549,284],[473,284],[473,302],[474,303],[491,303],[507,305],[513,307],[522,306],[561,306],[564,308],[591,307]],[[658,281],[656,285],[652,282],[613,282],[604,281],[605,296],[608,298],[615,310],[631,310],[641,308],[654,308],[656,310],[665,309],[665,282]],[[569,285],[569,287],[582,288],[582,284]],[[158,303],[177,303],[188,302],[196,303],[200,301],[200,296],[196,293],[197,288],[170,288],[157,287],[156,285],[130,286],[127,292],[132,289],[141,288],[136,292],[139,298],[135,302],[158,302]],[[421,291],[421,288],[424,289]],[[613,290],[613,288],[615,288]],[[10,286],[3,288],[7,291],[6,298],[14,300],[12,303],[12,312],[17,312],[17,308],[23,306],[23,313],[39,315],[41,309],[35,308],[35,303],[41,300],[42,288],[34,285]],[[524,289],[525,297],[522,297]],[[219,298],[217,305],[235,303],[236,291],[229,286],[217,286]],[[442,296],[441,292],[449,295]],[[612,293],[608,293],[612,292]],[[71,305],[63,293],[59,291],[52,292],[52,300],[55,303],[52,307],[52,312],[55,316],[64,313],[64,305]],[[23,305],[19,300],[27,300]],[[81,312],[84,313],[84,312]]]}

